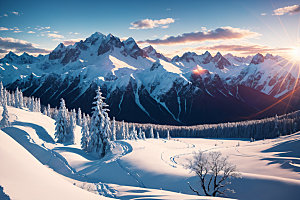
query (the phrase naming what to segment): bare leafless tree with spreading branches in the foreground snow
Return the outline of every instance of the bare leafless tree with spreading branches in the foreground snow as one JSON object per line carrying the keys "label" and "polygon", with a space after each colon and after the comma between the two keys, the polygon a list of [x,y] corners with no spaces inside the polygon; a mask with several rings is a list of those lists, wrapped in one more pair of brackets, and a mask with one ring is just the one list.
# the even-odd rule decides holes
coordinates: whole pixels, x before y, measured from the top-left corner
{"label": "bare leafless tree with spreading branches in the foreground snow", "polygon": [[[226,192],[234,192],[228,187],[231,178],[239,178],[236,166],[228,162],[227,157],[222,157],[221,152],[195,153],[192,160],[186,166],[197,174],[200,179],[200,188],[206,196],[225,195]],[[194,189],[188,182],[190,189],[200,196],[200,191]]]}

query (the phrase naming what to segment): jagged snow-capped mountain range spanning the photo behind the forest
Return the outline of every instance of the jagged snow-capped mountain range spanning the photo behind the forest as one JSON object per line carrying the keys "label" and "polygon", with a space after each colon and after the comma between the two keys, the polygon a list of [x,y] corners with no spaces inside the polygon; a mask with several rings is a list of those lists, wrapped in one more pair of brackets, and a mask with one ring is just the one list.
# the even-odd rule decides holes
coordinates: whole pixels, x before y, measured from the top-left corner
{"label": "jagged snow-capped mountain range spanning the photo behind the forest", "polygon": [[187,52],[168,59],[133,38],[96,32],[46,56],[10,52],[0,60],[0,79],[43,104],[57,106],[64,98],[69,108],[85,112],[100,85],[118,120],[181,125],[240,120],[275,103],[296,81],[280,57],[258,54],[239,66],[227,58]]}

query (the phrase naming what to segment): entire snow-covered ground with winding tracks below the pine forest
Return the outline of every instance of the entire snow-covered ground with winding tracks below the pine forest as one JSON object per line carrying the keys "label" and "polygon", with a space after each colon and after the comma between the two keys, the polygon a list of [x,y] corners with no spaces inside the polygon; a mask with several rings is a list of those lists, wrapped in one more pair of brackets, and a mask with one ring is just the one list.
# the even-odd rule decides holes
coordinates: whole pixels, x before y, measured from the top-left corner
{"label": "entire snow-covered ground with winding tracks below the pine forest", "polygon": [[[196,196],[184,166],[193,152],[221,151],[242,174],[232,199],[299,199],[300,133],[276,139],[119,140],[102,159],[54,142],[54,120],[8,107],[13,126],[0,131],[0,186],[11,199],[218,199]],[[2,107],[0,107],[0,114]],[[172,134],[172,133],[171,133]],[[101,196],[99,196],[101,195]],[[1,194],[0,194],[1,196]],[[100,197],[100,198],[99,198]]]}

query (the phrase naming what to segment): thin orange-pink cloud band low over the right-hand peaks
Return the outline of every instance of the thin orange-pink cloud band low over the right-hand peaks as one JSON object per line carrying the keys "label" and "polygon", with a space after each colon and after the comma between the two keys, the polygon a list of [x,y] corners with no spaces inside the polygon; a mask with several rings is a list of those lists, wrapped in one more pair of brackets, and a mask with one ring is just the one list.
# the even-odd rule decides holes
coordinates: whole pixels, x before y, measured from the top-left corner
{"label": "thin orange-pink cloud band low over the right-hand peaks", "polygon": [[262,46],[257,44],[249,44],[249,45],[220,44],[214,46],[197,47],[196,50],[239,52],[240,54],[249,55],[249,54],[257,54],[257,53],[285,52],[285,51],[290,51],[291,48],[271,48],[268,46]]}

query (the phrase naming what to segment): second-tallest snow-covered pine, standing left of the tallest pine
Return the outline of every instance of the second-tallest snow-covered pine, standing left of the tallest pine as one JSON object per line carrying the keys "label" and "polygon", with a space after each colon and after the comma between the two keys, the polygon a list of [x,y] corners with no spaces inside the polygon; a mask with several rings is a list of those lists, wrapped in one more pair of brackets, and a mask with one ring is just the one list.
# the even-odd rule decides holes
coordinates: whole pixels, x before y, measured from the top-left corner
{"label": "second-tallest snow-covered pine, standing left of the tallest pine", "polygon": [[[33,99],[32,99],[33,101]],[[67,123],[67,109],[65,100],[60,100],[60,107],[59,111],[56,117],[55,122],[55,138],[57,139],[57,142],[66,142],[67,141],[67,129],[68,129],[68,123]]]}

